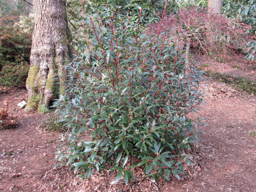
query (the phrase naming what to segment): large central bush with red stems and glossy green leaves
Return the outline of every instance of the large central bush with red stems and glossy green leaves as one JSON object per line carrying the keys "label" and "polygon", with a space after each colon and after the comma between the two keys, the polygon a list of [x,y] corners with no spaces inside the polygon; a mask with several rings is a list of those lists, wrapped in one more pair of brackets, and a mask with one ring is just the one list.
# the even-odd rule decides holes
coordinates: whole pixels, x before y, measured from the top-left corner
{"label": "large central bush with red stems and glossy green leaves", "polygon": [[[145,35],[140,21],[133,28],[108,6],[97,18],[88,18],[93,35],[84,27],[88,54],[74,50],[74,60],[61,69],[65,92],[54,105],[68,131],[56,166],[88,178],[111,165],[109,171],[118,172],[115,182],[124,176],[125,183],[135,180],[132,170],[138,166],[152,180],[179,178],[185,164],[193,165],[181,151],[198,140],[202,118],[196,112],[204,102],[203,74],[195,62],[185,66],[178,43],[186,38],[177,33],[172,41],[160,34],[161,25]],[[79,23],[84,22],[83,17]]]}

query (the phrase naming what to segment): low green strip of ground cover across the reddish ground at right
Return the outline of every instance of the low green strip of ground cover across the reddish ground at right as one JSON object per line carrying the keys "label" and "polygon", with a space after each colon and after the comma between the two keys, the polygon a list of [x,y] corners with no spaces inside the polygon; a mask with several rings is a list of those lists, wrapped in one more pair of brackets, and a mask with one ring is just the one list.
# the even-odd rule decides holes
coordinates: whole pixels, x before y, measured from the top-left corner
{"label": "low green strip of ground cover across the reddish ground at right", "polygon": [[237,91],[245,91],[249,94],[256,93],[256,81],[244,77],[231,76],[217,72],[210,74],[210,76],[214,80],[231,85]]}

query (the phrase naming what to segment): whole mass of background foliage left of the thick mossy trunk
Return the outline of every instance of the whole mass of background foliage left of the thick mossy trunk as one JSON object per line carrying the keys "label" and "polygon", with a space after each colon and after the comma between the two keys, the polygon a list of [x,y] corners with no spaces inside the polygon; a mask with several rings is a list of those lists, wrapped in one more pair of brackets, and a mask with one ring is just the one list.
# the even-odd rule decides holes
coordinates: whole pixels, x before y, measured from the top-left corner
{"label": "whole mass of background foliage left of the thick mossy trunk", "polygon": [[24,3],[0,2],[0,85],[19,85],[28,74],[34,16]]}

